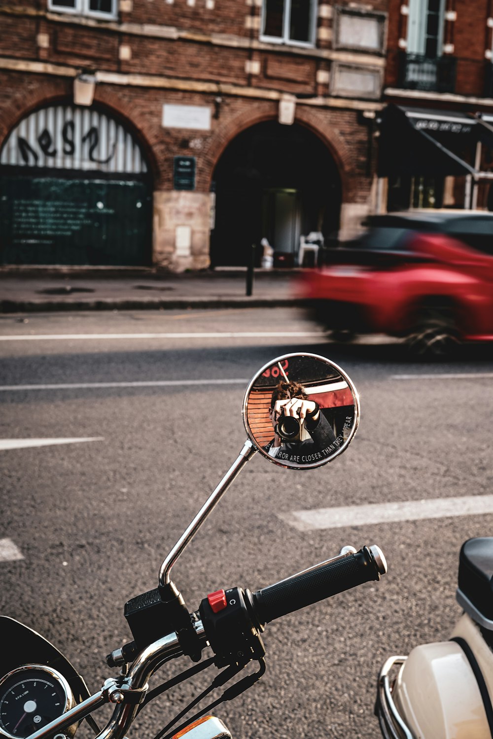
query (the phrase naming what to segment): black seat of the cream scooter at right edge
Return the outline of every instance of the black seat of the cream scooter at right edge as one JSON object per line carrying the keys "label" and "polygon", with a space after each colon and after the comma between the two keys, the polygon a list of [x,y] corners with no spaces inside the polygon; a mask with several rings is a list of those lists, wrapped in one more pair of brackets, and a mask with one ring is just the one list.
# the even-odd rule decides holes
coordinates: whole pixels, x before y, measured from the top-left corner
{"label": "black seat of the cream scooter at right edge", "polygon": [[459,590],[493,621],[493,537],[468,539],[459,555]]}

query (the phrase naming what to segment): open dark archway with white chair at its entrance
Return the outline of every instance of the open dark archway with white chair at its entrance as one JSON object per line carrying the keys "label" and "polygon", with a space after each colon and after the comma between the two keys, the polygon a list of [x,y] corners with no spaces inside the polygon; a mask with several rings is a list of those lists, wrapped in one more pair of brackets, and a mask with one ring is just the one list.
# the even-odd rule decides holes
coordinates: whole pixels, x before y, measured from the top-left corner
{"label": "open dark archway with white chair at its entrance", "polygon": [[[211,266],[245,265],[251,245],[265,237],[295,263],[299,236],[339,230],[341,179],[324,143],[308,129],[276,121],[238,134],[214,170],[216,217]],[[256,262],[261,249],[256,249]]]}

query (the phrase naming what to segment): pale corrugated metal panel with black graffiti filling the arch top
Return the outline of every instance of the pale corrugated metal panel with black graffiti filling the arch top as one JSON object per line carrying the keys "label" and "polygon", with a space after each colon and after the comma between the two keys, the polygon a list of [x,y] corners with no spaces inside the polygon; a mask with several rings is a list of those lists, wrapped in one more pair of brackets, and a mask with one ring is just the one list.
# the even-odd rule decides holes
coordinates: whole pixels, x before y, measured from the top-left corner
{"label": "pale corrugated metal panel with black graffiti filling the arch top", "polygon": [[0,164],[144,174],[139,144],[113,118],[89,108],[52,106],[21,120],[1,147]]}

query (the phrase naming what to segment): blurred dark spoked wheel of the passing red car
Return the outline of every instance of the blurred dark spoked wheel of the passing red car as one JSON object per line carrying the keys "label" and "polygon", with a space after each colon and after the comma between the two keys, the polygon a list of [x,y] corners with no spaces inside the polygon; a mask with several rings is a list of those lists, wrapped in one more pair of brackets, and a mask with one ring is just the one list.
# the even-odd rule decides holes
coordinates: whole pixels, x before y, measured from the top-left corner
{"label": "blurred dark spoked wheel of the passing red car", "polygon": [[446,307],[421,310],[406,345],[416,358],[441,359],[454,355],[460,347],[460,338],[451,310]]}

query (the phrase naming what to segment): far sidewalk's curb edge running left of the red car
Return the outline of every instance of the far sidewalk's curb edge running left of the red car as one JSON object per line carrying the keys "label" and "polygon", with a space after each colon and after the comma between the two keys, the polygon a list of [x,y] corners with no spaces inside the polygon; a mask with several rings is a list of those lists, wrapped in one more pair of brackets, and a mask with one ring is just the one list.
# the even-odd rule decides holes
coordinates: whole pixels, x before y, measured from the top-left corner
{"label": "far sidewalk's curb edge running left of the red car", "polygon": [[297,298],[177,298],[171,300],[101,299],[78,301],[2,300],[0,313],[49,313],[69,310],[187,310],[191,308],[279,308],[304,305]]}

